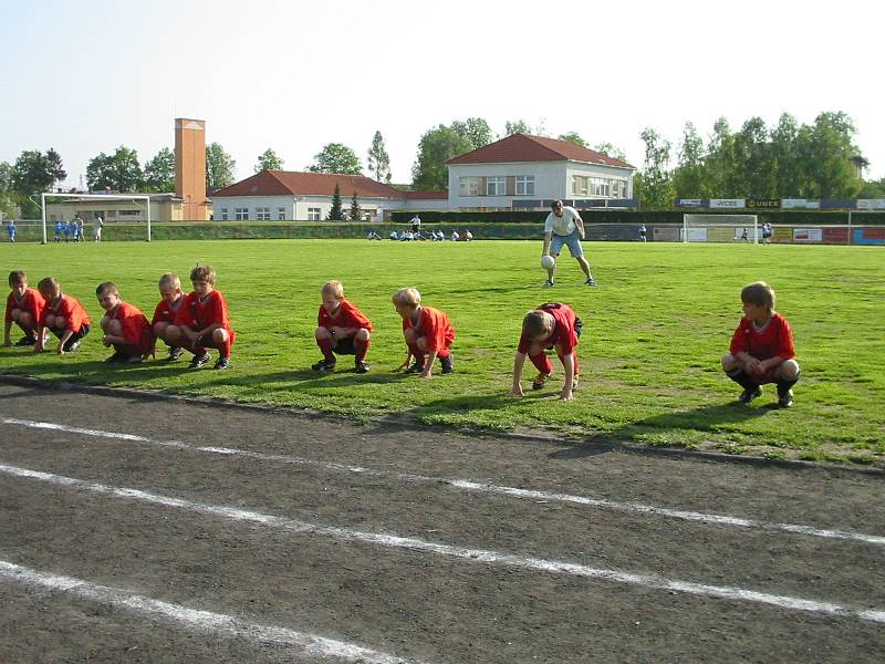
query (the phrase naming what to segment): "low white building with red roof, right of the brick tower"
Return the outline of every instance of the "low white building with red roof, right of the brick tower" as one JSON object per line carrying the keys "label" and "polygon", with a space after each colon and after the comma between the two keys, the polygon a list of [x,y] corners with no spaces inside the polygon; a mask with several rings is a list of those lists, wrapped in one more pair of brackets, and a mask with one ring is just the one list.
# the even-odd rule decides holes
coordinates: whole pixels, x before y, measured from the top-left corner
{"label": "low white building with red roof, right of the brick tower", "polygon": [[329,217],[335,186],[345,217],[356,194],[366,221],[384,220],[393,210],[447,209],[445,191],[400,191],[362,175],[262,170],[212,193],[216,221],[321,221]]}

